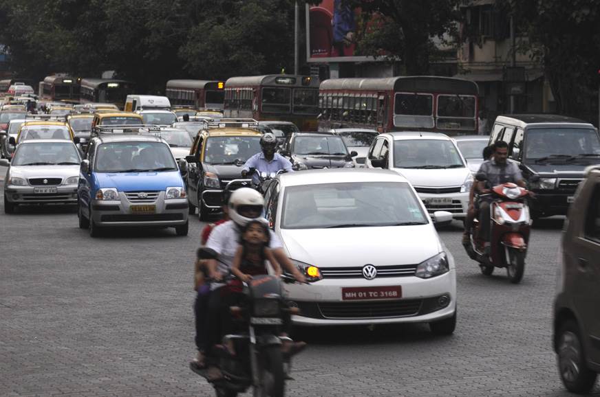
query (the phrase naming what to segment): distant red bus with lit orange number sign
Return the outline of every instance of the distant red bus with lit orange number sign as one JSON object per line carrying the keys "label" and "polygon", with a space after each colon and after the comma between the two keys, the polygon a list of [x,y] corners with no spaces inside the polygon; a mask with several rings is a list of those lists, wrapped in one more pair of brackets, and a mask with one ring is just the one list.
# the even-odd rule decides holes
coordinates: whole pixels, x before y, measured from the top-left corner
{"label": "distant red bus with lit orange number sign", "polygon": [[172,105],[223,109],[224,82],[211,80],[169,80],[165,96]]}

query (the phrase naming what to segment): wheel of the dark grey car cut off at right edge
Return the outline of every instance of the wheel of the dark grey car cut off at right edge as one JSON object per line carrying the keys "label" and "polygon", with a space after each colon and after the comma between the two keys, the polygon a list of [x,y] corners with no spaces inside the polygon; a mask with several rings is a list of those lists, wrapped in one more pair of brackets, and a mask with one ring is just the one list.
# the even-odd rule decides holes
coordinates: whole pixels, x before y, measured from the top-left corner
{"label": "wheel of the dark grey car cut off at right edge", "polygon": [[557,364],[561,381],[569,392],[588,394],[596,384],[597,374],[588,368],[580,334],[573,320],[560,327]]}

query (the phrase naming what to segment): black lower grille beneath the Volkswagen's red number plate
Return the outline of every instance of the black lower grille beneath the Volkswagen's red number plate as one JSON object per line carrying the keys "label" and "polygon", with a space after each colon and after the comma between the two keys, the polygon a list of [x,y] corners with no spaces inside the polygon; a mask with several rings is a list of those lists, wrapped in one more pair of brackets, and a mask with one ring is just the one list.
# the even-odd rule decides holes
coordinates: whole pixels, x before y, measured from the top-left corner
{"label": "black lower grille beneath the Volkswagen's red number plate", "polygon": [[419,313],[422,299],[396,299],[381,302],[321,302],[326,319],[378,319],[409,317]]}

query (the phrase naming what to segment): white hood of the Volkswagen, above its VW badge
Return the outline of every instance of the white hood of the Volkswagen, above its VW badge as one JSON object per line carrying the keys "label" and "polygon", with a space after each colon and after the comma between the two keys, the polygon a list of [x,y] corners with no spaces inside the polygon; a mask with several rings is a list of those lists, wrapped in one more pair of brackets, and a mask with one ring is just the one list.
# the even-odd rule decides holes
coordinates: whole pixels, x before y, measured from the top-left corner
{"label": "white hood of the Volkswagen, above its VW badge", "polygon": [[280,229],[279,236],[290,258],[323,267],[418,264],[443,249],[431,224]]}

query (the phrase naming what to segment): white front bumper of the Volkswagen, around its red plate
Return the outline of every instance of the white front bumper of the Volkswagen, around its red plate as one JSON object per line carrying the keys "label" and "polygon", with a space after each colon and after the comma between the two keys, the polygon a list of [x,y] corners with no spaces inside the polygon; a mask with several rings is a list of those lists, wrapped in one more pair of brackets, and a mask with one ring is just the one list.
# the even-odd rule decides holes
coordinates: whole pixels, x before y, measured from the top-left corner
{"label": "white front bumper of the Volkswagen, around its red plate", "polygon": [[[402,287],[401,299],[343,300],[343,287]],[[452,317],[456,312],[456,273],[431,279],[382,277],[364,279],[323,279],[307,285],[288,284],[286,299],[301,310],[292,317],[301,326],[423,323]],[[442,299],[442,297],[444,297]],[[441,304],[441,300],[445,300]]]}

